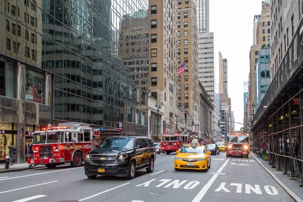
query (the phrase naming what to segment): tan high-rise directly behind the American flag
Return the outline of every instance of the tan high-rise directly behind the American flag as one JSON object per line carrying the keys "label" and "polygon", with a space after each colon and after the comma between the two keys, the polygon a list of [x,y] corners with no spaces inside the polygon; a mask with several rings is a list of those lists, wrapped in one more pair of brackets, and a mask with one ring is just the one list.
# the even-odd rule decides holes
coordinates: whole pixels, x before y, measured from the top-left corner
{"label": "tan high-rise directly behind the American flag", "polygon": [[[185,71],[178,75],[179,108],[185,109],[185,118],[190,116],[197,123],[198,103],[198,48],[196,2],[178,1],[178,67],[185,62]],[[187,124],[192,123],[187,122]],[[186,131],[187,129],[185,129]],[[194,131],[197,131],[193,127]]]}

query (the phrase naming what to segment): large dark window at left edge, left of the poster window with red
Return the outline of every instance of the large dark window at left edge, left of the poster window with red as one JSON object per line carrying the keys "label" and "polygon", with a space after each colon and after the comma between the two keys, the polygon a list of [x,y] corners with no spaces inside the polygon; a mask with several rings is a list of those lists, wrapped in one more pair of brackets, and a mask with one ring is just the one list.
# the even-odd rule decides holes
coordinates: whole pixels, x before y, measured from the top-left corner
{"label": "large dark window at left edge, left of the poster window with red", "polygon": [[[2,60],[3,59],[3,60]],[[5,62],[4,62],[5,61]],[[9,59],[0,58],[0,95],[16,98],[17,64]]]}

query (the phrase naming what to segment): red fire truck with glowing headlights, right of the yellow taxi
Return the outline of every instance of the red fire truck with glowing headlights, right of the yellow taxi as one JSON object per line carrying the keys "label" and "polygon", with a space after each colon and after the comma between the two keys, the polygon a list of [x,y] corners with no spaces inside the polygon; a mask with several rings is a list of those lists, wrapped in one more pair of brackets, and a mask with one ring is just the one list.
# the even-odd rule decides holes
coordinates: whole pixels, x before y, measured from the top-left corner
{"label": "red fire truck with glowing headlights, right of the yellow taxi", "polygon": [[249,155],[249,135],[241,133],[229,133],[227,135],[226,157],[232,155],[248,158]]}

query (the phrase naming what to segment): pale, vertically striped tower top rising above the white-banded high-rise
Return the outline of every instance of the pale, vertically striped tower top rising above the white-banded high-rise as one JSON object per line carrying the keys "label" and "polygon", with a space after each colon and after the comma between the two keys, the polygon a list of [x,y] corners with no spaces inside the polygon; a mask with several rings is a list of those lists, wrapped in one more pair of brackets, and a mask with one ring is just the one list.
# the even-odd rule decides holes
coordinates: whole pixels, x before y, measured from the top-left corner
{"label": "pale, vertically striped tower top rising above the white-banded high-rise", "polygon": [[[180,0],[179,0],[180,1]],[[210,31],[210,2],[209,0],[197,0],[197,27],[198,33]]]}

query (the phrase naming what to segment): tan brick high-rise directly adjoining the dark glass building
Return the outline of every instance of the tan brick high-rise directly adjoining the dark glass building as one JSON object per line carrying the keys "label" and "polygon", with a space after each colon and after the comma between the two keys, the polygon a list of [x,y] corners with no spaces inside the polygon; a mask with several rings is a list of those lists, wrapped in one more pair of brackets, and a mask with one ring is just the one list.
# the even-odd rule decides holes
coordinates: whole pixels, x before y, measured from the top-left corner
{"label": "tan brick high-rise directly adjoining the dark glass building", "polygon": [[[177,0],[149,1],[148,9],[149,90],[150,96],[163,103],[166,123],[175,120],[178,114],[177,4]],[[174,129],[174,124],[170,124],[170,129]]]}

